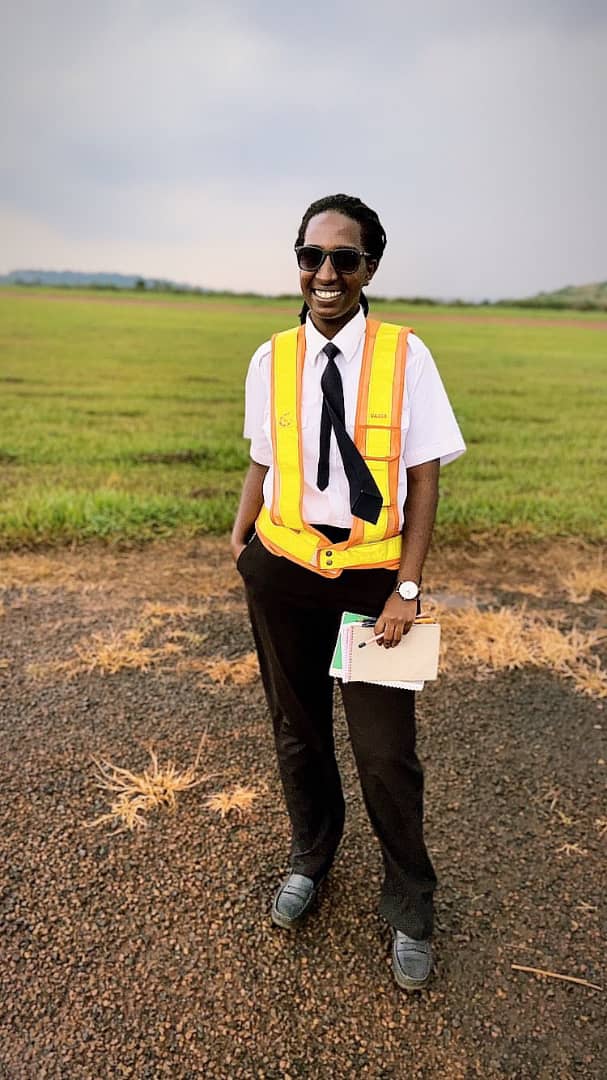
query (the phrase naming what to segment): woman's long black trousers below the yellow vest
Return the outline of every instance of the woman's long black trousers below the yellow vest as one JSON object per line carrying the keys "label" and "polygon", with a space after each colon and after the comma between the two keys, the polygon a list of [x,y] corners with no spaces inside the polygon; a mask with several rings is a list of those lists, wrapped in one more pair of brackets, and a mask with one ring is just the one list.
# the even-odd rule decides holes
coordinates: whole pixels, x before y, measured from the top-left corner
{"label": "woman's long black trousers below the yellow vest", "polygon": [[[332,538],[333,539],[333,538]],[[392,570],[343,570],[323,578],[272,555],[254,537],[238,561],[273,721],[292,825],[295,873],[319,879],[343,831],[328,675],[342,611],[377,617]],[[432,932],[436,877],[423,841],[423,773],[416,756],[415,692],[340,683],[370,823],[381,847],[380,914],[412,937]]]}

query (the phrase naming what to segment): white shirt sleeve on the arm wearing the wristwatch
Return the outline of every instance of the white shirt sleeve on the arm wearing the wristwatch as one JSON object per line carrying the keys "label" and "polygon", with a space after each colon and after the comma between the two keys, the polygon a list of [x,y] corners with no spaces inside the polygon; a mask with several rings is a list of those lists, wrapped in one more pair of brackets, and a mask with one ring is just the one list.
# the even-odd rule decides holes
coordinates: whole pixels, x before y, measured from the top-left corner
{"label": "white shirt sleeve on the arm wearing the wristwatch", "polygon": [[466,451],[466,443],[432,353],[415,334],[409,335],[405,378],[406,468],[435,458],[440,458],[442,465],[455,461]]}

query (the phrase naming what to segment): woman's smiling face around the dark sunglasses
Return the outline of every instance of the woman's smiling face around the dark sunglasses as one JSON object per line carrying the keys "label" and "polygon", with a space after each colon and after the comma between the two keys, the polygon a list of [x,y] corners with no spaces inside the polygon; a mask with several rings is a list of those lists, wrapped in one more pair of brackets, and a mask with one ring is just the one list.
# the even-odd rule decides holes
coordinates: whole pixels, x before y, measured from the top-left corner
{"label": "woman's smiling face around the dark sunglasses", "polygon": [[[338,211],[316,214],[306,229],[305,244],[315,244],[323,251],[336,247],[355,247],[364,251],[361,226]],[[319,270],[299,271],[299,285],[316,329],[333,338],[355,313],[361,289],[367,285],[377,269],[377,261],[363,258],[355,273],[338,273],[329,258]]]}

